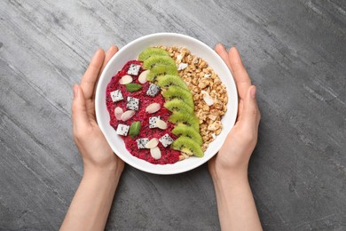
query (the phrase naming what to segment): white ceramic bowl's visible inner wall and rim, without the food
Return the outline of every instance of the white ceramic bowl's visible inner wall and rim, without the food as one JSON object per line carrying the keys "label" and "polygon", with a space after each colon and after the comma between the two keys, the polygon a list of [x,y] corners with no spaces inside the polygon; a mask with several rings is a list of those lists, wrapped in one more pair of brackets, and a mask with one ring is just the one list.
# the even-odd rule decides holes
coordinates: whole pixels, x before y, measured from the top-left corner
{"label": "white ceramic bowl's visible inner wall and rim, without the food", "polygon": [[[222,119],[224,128],[221,133],[216,136],[216,140],[209,144],[203,157],[192,156],[184,161],[164,165],[148,163],[131,155],[126,149],[122,138],[116,134],[114,128],[109,124],[110,117],[106,108],[106,85],[109,83],[112,76],[122,69],[127,61],[136,60],[138,54],[145,50],[146,47],[155,45],[185,46],[193,54],[206,60],[208,65],[216,71],[218,76],[220,76],[222,82],[227,88],[229,100],[227,104],[227,112]],[[213,157],[213,155],[216,155],[217,151],[223,145],[228,132],[232,129],[232,126],[235,123],[238,110],[238,94],[230,70],[217,53],[208,47],[208,45],[203,44],[201,41],[190,36],[175,33],[158,33],[142,36],[130,44],[125,45],[108,62],[98,81],[95,108],[100,129],[105,134],[109,145],[114,150],[114,153],[125,163],[130,164],[138,170],[154,174],[176,174],[193,170],[201,164],[206,163],[211,157]]]}

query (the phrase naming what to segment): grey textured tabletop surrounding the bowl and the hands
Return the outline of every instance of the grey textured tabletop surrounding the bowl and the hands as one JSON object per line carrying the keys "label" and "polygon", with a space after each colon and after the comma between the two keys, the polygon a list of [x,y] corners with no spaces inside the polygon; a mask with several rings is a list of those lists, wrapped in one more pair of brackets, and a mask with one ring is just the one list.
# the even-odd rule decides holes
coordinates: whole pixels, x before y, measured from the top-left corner
{"label": "grey textured tabletop surrounding the bowl and the hands", "polygon": [[[236,45],[262,112],[249,179],[265,230],[346,230],[346,1],[0,1],[0,229],[58,229],[83,174],[72,85],[155,32]],[[219,230],[206,164],[126,166],[107,229]]]}

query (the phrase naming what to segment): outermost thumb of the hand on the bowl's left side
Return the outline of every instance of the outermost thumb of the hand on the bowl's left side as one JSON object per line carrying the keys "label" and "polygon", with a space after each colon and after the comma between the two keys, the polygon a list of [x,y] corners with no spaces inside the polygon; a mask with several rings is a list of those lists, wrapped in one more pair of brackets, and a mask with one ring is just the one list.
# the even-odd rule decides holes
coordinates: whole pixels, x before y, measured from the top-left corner
{"label": "outermost thumb of the hand on the bowl's left side", "polygon": [[74,100],[72,101],[72,122],[74,130],[82,128],[89,123],[83,89],[81,86],[74,85]]}

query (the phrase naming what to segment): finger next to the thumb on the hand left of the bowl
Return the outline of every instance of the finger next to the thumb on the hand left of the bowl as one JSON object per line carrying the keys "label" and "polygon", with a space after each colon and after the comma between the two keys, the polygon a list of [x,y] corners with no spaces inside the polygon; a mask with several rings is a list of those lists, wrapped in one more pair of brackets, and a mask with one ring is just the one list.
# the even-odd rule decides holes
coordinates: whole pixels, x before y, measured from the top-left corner
{"label": "finger next to the thumb on the hand left of the bowl", "polygon": [[98,74],[105,60],[105,52],[102,49],[94,54],[90,61],[90,65],[84,73],[81,81],[81,87],[84,92],[84,97],[86,100],[92,99],[95,84],[98,80]]}

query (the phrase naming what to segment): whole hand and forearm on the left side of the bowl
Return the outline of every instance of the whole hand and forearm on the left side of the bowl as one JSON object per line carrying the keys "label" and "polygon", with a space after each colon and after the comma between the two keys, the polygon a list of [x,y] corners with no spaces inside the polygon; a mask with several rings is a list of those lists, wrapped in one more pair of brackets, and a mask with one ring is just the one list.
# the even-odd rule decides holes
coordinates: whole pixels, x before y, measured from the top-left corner
{"label": "whole hand and forearm on the left side of the bowl", "polygon": [[60,230],[104,230],[124,163],[114,155],[95,117],[95,89],[106,63],[118,51],[98,49],[81,85],[74,86],[74,139],[83,157],[83,179]]}

